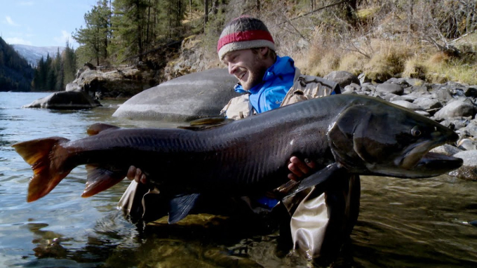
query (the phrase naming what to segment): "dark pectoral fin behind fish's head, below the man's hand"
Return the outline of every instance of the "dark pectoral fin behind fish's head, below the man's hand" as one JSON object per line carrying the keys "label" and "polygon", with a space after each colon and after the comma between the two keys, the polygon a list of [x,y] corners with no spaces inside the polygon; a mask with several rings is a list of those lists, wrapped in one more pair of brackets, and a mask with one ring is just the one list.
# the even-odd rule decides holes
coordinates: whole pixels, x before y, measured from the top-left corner
{"label": "dark pectoral fin behind fish's head, below the man's hand", "polygon": [[321,185],[323,182],[326,182],[331,177],[335,177],[337,175],[340,175],[341,173],[343,175],[347,173],[346,168],[340,167],[338,163],[332,163],[326,168],[318,170],[316,173],[313,173],[308,177],[304,178],[301,182],[295,185],[295,187],[291,188],[288,192],[286,192],[283,198],[302,192],[304,189],[307,189],[309,187]]}

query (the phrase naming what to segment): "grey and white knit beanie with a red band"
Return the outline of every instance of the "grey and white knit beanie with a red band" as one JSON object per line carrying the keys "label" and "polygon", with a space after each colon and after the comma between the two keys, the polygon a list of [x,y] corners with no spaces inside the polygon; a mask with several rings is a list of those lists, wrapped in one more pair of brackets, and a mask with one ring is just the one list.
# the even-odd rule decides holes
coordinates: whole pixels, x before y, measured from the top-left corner
{"label": "grey and white knit beanie with a red band", "polygon": [[262,20],[241,16],[225,25],[217,43],[220,60],[231,51],[268,47],[275,51],[274,39]]}

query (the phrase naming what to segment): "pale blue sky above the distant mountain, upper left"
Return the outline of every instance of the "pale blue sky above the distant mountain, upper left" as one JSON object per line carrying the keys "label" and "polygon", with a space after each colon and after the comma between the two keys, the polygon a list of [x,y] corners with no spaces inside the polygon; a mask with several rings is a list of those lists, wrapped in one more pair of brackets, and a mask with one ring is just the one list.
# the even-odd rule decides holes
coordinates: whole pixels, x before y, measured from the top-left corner
{"label": "pale blue sky above the distant mountain, upper left", "polygon": [[0,36],[9,44],[78,47],[71,34],[97,0],[0,0]]}

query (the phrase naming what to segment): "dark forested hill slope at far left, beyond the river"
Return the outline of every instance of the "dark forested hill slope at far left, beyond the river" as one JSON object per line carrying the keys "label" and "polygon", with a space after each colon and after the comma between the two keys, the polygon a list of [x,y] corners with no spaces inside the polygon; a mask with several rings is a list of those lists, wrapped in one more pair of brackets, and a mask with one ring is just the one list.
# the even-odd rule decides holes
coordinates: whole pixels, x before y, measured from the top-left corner
{"label": "dark forested hill slope at far left, beyond the river", "polygon": [[34,70],[0,37],[0,91],[30,91]]}

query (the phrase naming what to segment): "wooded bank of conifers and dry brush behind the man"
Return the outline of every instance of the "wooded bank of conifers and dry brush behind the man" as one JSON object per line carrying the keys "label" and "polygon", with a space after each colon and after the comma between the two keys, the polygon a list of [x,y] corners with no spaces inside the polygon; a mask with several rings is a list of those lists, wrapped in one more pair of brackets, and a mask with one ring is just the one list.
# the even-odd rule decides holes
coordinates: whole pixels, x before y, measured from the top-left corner
{"label": "wooded bank of conifers and dry brush behind the man", "polygon": [[239,15],[263,20],[277,53],[306,74],[477,84],[476,0],[100,0],[72,33],[80,46],[41,60],[32,86],[61,90],[85,62],[163,69],[185,41],[195,44],[188,53],[200,53],[202,69],[223,67],[217,40]]}

